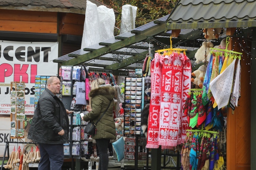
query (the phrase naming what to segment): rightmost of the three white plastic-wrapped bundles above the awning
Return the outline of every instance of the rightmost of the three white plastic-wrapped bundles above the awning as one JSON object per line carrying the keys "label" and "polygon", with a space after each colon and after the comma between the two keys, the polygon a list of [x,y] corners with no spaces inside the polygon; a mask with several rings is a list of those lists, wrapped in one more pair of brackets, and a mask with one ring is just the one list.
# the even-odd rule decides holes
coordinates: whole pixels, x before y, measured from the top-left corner
{"label": "rightmost of the three white plastic-wrapped bundles above the awning", "polygon": [[137,6],[132,6],[129,4],[122,6],[120,34],[129,32],[135,29],[136,13],[137,13]]}

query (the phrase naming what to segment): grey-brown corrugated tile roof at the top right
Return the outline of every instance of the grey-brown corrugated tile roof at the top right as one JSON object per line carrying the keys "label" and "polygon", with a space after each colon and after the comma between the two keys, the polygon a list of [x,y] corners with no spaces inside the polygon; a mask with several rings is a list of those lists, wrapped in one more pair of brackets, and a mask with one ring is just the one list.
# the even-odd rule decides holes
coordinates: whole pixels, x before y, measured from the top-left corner
{"label": "grey-brown corrugated tile roof at the top right", "polygon": [[180,0],[167,19],[167,27],[171,30],[255,27],[255,8],[256,0]]}

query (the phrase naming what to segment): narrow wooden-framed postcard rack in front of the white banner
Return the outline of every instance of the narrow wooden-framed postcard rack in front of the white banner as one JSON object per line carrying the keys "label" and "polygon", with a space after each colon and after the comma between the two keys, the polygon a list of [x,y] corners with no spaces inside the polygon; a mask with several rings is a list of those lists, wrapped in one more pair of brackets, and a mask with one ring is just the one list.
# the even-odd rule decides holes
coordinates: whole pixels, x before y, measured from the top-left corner
{"label": "narrow wooden-framed postcard rack in front of the white banner", "polygon": [[11,82],[11,139],[25,138],[25,82]]}

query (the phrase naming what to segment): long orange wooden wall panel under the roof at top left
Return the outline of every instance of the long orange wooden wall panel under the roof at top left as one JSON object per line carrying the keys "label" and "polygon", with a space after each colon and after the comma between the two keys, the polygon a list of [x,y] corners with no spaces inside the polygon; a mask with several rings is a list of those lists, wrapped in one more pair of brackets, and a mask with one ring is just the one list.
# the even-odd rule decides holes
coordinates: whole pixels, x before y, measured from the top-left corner
{"label": "long orange wooden wall panel under the roof at top left", "polygon": [[0,10],[0,31],[57,33],[57,13]]}

